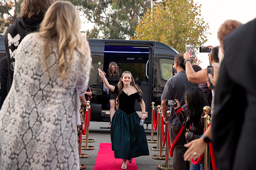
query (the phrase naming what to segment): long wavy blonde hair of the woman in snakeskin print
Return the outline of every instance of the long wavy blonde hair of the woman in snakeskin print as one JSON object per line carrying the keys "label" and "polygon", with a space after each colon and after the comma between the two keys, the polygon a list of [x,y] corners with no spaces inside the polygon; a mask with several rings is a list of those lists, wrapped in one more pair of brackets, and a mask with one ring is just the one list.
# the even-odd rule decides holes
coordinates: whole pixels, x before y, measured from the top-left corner
{"label": "long wavy blonde hair of the woman in snakeskin print", "polygon": [[[39,35],[45,39],[41,50],[41,59],[47,69],[46,58],[57,48],[56,64],[60,78],[64,81],[68,66],[74,61],[74,51],[79,53],[80,67],[88,71],[91,68],[90,49],[86,49],[86,39],[80,32],[81,21],[76,7],[67,1],[56,1],[47,10],[40,25]],[[88,43],[88,42],[86,42]],[[71,57],[67,59],[67,53]]]}

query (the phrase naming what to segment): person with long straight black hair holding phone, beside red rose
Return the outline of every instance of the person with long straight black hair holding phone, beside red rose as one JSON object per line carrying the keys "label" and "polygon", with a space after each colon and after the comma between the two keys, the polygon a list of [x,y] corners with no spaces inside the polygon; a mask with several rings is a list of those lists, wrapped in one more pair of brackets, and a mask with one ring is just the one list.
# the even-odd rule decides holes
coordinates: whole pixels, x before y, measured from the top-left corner
{"label": "person with long straight black hair holding phone, beside red rose", "polygon": [[[205,114],[203,112],[203,108],[204,106],[209,105],[203,91],[198,87],[192,87],[185,92],[185,103],[188,106],[186,114],[184,114],[182,110],[179,110],[181,108],[179,101],[177,99],[175,99],[175,101],[177,106],[173,106],[173,108],[175,108],[175,114],[178,120],[183,125],[185,130],[187,130],[185,133],[187,141],[190,142],[200,138],[204,133],[204,119],[202,116]],[[204,169],[203,159],[199,165],[193,165],[193,163],[191,164],[190,170],[196,169]]]}

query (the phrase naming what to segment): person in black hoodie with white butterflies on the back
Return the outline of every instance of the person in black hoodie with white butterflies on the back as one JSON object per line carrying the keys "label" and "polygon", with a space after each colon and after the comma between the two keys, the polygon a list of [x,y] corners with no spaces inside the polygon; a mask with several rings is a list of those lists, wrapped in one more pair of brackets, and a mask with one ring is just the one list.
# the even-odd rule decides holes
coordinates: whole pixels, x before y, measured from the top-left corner
{"label": "person in black hoodie with white butterflies on the back", "polygon": [[16,20],[15,24],[6,29],[4,45],[9,70],[7,94],[12,86],[16,49],[27,34],[35,32],[39,28],[44,18],[44,13],[53,3],[54,0],[24,0],[21,4],[20,14],[18,16],[19,19]]}

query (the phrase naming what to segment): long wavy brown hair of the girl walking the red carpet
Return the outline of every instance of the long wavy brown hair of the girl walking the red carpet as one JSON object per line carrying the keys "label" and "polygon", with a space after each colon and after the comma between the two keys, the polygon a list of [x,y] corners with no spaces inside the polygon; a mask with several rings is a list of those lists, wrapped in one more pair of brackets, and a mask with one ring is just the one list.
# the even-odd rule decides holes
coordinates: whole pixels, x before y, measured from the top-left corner
{"label": "long wavy brown hair of the girl walking the red carpet", "polygon": [[133,77],[132,77],[132,74],[131,74],[131,72],[129,72],[129,71],[125,71],[125,72],[123,72],[123,74],[121,75],[121,78],[120,78],[120,80],[119,80],[119,82],[118,82],[118,84],[117,84],[117,86],[118,86],[118,92],[117,92],[117,98],[116,98],[116,101],[117,101],[117,106],[119,107],[119,96],[122,94],[122,92],[123,92],[123,87],[124,87],[124,83],[122,82],[122,78],[124,77],[124,75],[125,74],[130,74],[131,75],[131,78],[132,78],[132,81],[130,82],[130,85],[131,86],[133,86],[133,87],[135,87],[136,88],[136,90],[139,92],[139,96],[140,96],[140,99],[142,100],[142,91],[140,90],[140,87],[137,85],[137,84],[135,84],[135,81],[134,81],[134,79],[133,79]]}

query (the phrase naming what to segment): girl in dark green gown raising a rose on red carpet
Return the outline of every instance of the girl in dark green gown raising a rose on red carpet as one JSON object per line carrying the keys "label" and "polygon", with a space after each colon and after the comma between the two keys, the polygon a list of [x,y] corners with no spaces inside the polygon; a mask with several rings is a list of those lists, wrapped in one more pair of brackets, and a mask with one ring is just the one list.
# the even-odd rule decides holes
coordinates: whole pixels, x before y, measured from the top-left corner
{"label": "girl in dark green gown raising a rose on red carpet", "polygon": [[136,99],[141,105],[141,119],[146,118],[145,103],[129,71],[125,71],[117,86],[110,85],[104,73],[98,69],[105,86],[113,93],[117,93],[118,109],[113,115],[111,125],[111,143],[115,158],[123,160],[121,169],[127,168],[127,161],[132,158],[149,155],[148,143],[144,127],[140,125],[140,117],[135,111]]}

